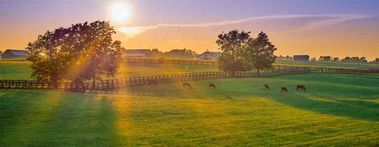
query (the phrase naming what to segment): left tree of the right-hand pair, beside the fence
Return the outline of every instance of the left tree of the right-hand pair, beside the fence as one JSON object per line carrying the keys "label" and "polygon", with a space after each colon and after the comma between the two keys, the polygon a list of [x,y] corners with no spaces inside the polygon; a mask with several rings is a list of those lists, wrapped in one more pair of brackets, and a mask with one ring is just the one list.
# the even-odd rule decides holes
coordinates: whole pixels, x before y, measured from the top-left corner
{"label": "left tree of the right-hand pair, beside the fence", "polygon": [[251,66],[246,61],[246,44],[250,37],[250,32],[231,30],[218,36],[216,43],[223,51],[218,59],[218,68],[222,71],[249,71]]}

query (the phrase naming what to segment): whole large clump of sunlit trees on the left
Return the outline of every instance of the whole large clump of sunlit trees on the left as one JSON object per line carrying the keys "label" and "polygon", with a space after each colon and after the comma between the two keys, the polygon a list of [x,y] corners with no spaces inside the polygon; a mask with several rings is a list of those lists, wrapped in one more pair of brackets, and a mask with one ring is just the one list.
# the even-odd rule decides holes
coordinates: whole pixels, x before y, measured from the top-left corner
{"label": "whole large clump of sunlit trees on the left", "polygon": [[113,27],[106,21],[72,25],[47,31],[26,48],[33,79],[102,79],[113,76],[121,60],[120,41],[113,41]]}

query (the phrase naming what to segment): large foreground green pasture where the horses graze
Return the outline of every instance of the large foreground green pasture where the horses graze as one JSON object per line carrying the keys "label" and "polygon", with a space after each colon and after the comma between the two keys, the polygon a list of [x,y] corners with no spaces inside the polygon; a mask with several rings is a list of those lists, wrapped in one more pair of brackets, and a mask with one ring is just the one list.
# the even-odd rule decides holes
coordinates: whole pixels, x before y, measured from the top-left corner
{"label": "large foreground green pasture where the horses graze", "polygon": [[87,93],[1,89],[0,146],[379,146],[377,75],[190,83]]}

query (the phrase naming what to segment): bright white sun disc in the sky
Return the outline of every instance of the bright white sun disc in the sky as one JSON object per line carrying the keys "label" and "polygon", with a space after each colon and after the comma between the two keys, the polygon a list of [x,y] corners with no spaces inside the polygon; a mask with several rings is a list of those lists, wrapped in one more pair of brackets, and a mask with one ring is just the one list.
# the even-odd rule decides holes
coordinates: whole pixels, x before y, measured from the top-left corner
{"label": "bright white sun disc in the sky", "polygon": [[109,9],[109,15],[112,20],[123,23],[127,21],[130,16],[130,8],[124,2],[115,2]]}

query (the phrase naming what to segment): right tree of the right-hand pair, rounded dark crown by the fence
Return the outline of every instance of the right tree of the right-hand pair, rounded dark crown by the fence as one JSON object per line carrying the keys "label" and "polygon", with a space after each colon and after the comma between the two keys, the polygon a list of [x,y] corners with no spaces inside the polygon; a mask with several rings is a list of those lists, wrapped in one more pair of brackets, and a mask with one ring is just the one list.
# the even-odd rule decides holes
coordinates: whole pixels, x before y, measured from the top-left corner
{"label": "right tree of the right-hand pair, rounded dark crown by the fence", "polygon": [[275,46],[269,41],[268,36],[261,32],[257,38],[250,38],[246,46],[247,56],[251,59],[255,69],[263,70],[271,67],[275,62]]}

